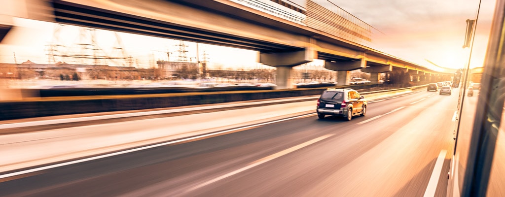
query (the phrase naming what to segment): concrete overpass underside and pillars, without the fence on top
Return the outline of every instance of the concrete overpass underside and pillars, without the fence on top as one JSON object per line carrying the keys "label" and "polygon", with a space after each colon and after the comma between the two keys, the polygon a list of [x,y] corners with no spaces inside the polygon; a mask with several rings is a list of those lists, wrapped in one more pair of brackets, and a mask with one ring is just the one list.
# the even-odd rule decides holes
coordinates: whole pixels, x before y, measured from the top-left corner
{"label": "concrete overpass underside and pillars, without the fence on top", "polygon": [[[342,71],[339,84],[348,83],[351,70],[371,73],[376,83],[378,75],[392,67],[419,67],[231,1],[145,0],[141,6],[136,0],[8,1],[15,5],[13,10],[29,13],[9,14],[14,17],[259,51],[259,62],[277,67],[279,88],[292,87],[292,67],[314,59],[325,60],[327,69]],[[6,23],[0,20],[2,24]]]}

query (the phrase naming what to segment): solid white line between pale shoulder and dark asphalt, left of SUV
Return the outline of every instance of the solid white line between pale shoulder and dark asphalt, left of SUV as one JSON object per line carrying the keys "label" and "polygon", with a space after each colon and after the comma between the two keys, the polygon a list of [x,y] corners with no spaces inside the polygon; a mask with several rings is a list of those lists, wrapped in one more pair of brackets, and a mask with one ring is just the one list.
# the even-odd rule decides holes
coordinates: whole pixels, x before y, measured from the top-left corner
{"label": "solid white line between pale shoulder and dark asphalt, left of SUV", "polygon": [[146,147],[139,147],[139,148],[135,148],[135,149],[119,151],[119,152],[115,152],[115,153],[109,153],[109,154],[99,155],[99,156],[90,157],[90,158],[79,159],[79,160],[75,160],[75,161],[69,161],[69,162],[64,162],[64,163],[59,163],[59,164],[54,164],[54,165],[49,165],[49,166],[43,166],[43,167],[39,167],[39,168],[23,170],[23,171],[19,171],[19,172],[13,172],[13,173],[9,173],[9,174],[3,174],[3,175],[0,175],[0,179],[12,177],[12,176],[17,176],[17,175],[21,175],[21,174],[26,174],[26,173],[31,173],[31,172],[36,172],[36,171],[41,171],[41,170],[62,167],[62,166],[66,166],[66,165],[72,165],[72,164],[76,164],[76,163],[82,163],[82,162],[86,162],[86,161],[92,161],[92,160],[96,160],[96,159],[102,159],[102,158],[106,158],[106,157],[112,157],[112,156],[116,156],[116,155],[122,155],[122,154],[126,154],[126,153],[132,153],[132,152],[141,151],[141,150],[145,150],[145,149],[151,149],[151,148],[156,148],[156,147],[161,147],[161,146],[166,146],[166,145],[171,145],[171,144],[183,143],[186,141],[194,141],[194,140],[198,140],[201,138],[207,138],[207,137],[211,137],[211,136],[217,136],[220,134],[233,132],[235,130],[240,130],[240,129],[244,129],[244,128],[251,128],[251,127],[256,127],[256,126],[261,126],[261,125],[266,125],[266,124],[272,124],[272,123],[296,119],[296,118],[300,118],[300,117],[312,116],[315,114],[316,113],[299,115],[299,116],[295,116],[295,117],[284,118],[284,119],[274,120],[274,121],[270,121],[270,122],[263,122],[263,123],[259,123],[259,124],[248,125],[248,126],[243,126],[243,127],[239,127],[239,128],[233,128],[233,129],[229,129],[229,130],[223,130],[221,132],[215,132],[215,133],[205,134],[205,135],[201,135],[201,136],[195,136],[195,137],[191,137],[191,138],[186,138],[186,139],[181,139],[181,140],[176,140],[176,141],[171,141],[171,142],[165,142],[165,143],[161,143],[161,144],[150,145],[150,146],[146,146]]}

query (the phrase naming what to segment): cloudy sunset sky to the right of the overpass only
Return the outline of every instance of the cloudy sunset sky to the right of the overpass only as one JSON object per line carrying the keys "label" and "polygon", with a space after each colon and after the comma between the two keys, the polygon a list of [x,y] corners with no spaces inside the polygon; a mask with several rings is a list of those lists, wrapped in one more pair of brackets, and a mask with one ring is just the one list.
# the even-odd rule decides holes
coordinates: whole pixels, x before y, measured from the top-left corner
{"label": "cloudy sunset sky to the right of the overpass only", "polygon": [[[376,33],[372,48],[422,65],[428,59],[441,67],[462,68],[466,20],[475,19],[477,0],[332,0],[384,34]],[[482,0],[471,67],[481,67],[495,1]]]}

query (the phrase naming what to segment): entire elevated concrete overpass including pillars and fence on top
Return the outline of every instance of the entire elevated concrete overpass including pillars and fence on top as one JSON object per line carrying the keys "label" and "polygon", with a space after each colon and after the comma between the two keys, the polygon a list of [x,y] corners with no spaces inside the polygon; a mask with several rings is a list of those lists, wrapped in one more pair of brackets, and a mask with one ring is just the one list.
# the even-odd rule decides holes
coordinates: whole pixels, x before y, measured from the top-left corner
{"label": "entire elevated concrete overpass including pillars and fence on top", "polygon": [[[403,72],[430,81],[438,72],[366,47],[371,26],[321,0],[8,0],[0,10],[0,28],[9,17],[187,40],[255,50],[258,62],[277,68],[280,89],[292,88],[292,67],[325,60],[338,71],[338,84],[361,69],[378,83],[380,73]],[[14,9],[12,9],[14,8]],[[340,10],[338,10],[340,9]],[[5,33],[4,33],[5,35]]]}

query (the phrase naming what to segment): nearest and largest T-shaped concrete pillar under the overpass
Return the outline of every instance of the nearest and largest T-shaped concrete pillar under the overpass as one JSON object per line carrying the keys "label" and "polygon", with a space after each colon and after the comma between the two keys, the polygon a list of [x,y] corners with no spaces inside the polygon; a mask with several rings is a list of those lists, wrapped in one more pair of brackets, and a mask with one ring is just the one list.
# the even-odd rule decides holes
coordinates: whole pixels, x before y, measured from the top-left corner
{"label": "nearest and largest T-shaped concrete pillar under the overpass", "polygon": [[299,51],[261,53],[260,63],[276,67],[275,83],[276,89],[294,88],[293,78],[291,76],[293,67],[313,61],[317,57],[317,52],[310,49]]}

